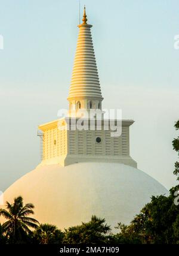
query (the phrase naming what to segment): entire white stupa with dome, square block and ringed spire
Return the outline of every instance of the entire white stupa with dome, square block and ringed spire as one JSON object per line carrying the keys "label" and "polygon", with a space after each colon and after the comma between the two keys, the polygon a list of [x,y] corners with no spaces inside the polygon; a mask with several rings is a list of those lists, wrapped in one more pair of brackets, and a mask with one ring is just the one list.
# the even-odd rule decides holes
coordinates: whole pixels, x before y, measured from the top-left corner
{"label": "entire white stupa with dome, square block and ringed spire", "polygon": [[[24,202],[35,205],[39,222],[61,229],[89,221],[92,215],[105,218],[115,227],[118,222],[128,224],[152,195],[168,191],[138,170],[137,162],[129,154],[129,126],[134,121],[122,120],[118,136],[112,136],[112,130],[106,129],[107,119],[102,118],[98,129],[96,116],[94,129],[90,129],[90,122],[82,130],[73,129],[80,119],[75,119],[74,113],[101,110],[103,101],[92,26],[87,24],[85,10],[83,23],[78,27],[68,118],[39,126],[42,162],[5,191],[4,201],[12,202],[21,195]],[[117,124],[117,120],[114,122]]]}

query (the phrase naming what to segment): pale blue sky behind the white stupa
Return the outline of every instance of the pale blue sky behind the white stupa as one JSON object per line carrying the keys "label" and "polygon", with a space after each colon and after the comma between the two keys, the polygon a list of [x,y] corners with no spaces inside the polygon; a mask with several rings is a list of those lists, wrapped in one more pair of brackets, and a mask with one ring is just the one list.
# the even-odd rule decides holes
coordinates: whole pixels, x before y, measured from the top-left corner
{"label": "pale blue sky behind the white stupa", "polygon": [[[167,188],[177,155],[178,0],[81,0],[97,58],[103,107],[122,108],[138,168]],[[39,163],[39,124],[57,118],[78,37],[78,0],[0,0],[0,190]]]}

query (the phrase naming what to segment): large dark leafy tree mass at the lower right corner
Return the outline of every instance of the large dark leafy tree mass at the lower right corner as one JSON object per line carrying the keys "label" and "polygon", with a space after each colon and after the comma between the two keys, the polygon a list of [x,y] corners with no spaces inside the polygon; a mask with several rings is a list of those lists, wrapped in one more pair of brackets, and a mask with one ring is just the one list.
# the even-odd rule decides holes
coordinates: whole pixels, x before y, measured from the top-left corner
{"label": "large dark leafy tree mass at the lower right corner", "polygon": [[174,197],[152,197],[128,226],[119,223],[120,232],[113,236],[118,243],[172,244],[179,242],[179,208]]}

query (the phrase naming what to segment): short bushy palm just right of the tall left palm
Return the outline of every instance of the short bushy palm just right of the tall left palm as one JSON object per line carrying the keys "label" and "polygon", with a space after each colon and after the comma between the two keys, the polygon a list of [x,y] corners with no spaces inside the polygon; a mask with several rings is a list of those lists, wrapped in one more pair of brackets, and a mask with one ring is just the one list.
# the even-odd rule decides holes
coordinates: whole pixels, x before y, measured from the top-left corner
{"label": "short bushy palm just right of the tall left palm", "polygon": [[34,231],[34,237],[41,244],[61,243],[63,240],[63,232],[58,230],[55,225],[41,224]]}

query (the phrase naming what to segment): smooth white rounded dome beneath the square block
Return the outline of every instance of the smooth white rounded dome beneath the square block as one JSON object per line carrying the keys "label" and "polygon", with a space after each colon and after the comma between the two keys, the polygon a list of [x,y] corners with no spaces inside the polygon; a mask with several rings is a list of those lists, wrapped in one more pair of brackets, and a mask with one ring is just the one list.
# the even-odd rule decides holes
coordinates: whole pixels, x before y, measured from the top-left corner
{"label": "smooth white rounded dome beneath the square block", "polygon": [[22,195],[35,205],[39,222],[58,228],[105,218],[115,227],[128,224],[152,195],[168,194],[155,179],[124,164],[84,162],[61,167],[39,165],[5,191],[4,200]]}

